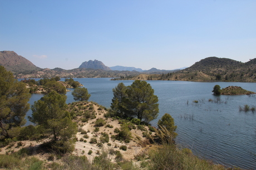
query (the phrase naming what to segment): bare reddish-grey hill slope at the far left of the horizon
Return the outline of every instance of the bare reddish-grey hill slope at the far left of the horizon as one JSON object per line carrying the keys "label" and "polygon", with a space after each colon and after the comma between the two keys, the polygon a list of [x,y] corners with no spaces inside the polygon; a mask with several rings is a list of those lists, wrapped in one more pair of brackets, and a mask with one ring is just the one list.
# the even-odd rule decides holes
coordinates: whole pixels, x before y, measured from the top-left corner
{"label": "bare reddish-grey hill slope at the far left of the horizon", "polygon": [[41,70],[41,68],[14,51],[0,51],[0,65],[13,73],[30,73],[31,71]]}

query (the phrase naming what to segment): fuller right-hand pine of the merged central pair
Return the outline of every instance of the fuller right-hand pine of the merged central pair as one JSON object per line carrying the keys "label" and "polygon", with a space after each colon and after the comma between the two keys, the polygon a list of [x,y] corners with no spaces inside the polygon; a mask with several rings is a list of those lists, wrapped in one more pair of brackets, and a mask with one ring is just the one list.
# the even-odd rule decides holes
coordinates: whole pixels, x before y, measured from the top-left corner
{"label": "fuller right-hand pine of the merged central pair", "polygon": [[149,83],[135,80],[127,86],[126,94],[127,99],[124,102],[129,115],[146,122],[156,119],[159,112],[158,97],[154,95],[154,89]]}

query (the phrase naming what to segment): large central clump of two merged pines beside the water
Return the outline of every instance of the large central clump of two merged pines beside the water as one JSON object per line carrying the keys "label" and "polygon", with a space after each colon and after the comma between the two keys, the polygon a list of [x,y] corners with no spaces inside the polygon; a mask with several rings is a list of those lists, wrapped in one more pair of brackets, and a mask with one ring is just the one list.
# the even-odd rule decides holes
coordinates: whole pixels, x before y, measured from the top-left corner
{"label": "large central clump of two merged pines beside the water", "polygon": [[117,116],[135,117],[150,122],[158,116],[158,97],[146,81],[135,80],[130,86],[119,83],[114,89],[111,109]]}

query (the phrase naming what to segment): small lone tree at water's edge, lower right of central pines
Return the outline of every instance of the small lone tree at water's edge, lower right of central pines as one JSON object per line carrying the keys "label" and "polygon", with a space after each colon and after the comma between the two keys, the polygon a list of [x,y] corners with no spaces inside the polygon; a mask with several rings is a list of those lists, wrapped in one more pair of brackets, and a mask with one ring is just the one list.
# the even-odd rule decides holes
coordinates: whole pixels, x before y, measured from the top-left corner
{"label": "small lone tree at water's edge, lower right of central pines", "polygon": [[174,119],[169,114],[164,114],[163,117],[157,122],[159,130],[156,134],[161,139],[161,142],[173,143],[178,135],[175,130],[177,126],[174,125]]}

